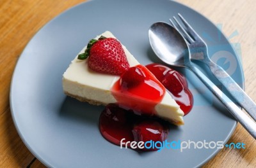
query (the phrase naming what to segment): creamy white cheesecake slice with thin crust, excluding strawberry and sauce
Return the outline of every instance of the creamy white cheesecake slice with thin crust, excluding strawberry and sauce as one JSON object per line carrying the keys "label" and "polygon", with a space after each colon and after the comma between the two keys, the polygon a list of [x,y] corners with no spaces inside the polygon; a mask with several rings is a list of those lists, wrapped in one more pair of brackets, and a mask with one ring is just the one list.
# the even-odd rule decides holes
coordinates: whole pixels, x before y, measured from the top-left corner
{"label": "creamy white cheesecake slice with thin crust, excluding strawberry and sauce", "polygon": [[[115,38],[109,31],[100,34],[100,36]],[[95,39],[98,39],[100,36],[97,36]],[[129,66],[138,66],[140,63],[131,55],[127,48],[124,45],[122,45],[122,48],[124,49]],[[80,53],[83,53],[85,49],[86,46]],[[117,103],[114,95],[111,94],[111,88],[119,80],[120,76],[93,71],[88,67],[88,59],[79,60],[77,57],[78,55],[72,60],[67,71],[63,74],[63,90],[65,94],[93,105]],[[184,113],[168,92],[165,92],[163,99],[155,106],[154,111],[155,115],[175,125],[184,124],[182,118]]]}

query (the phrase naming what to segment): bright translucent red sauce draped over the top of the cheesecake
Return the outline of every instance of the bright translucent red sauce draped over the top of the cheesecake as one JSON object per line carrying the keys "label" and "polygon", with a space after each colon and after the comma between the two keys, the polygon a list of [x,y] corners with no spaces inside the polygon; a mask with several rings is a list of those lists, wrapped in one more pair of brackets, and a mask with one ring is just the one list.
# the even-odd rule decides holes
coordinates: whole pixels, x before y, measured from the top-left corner
{"label": "bright translucent red sauce draped over the top of the cheesecake", "polygon": [[122,74],[111,93],[120,107],[139,114],[154,115],[155,106],[162,101],[165,88],[145,66],[138,65]]}

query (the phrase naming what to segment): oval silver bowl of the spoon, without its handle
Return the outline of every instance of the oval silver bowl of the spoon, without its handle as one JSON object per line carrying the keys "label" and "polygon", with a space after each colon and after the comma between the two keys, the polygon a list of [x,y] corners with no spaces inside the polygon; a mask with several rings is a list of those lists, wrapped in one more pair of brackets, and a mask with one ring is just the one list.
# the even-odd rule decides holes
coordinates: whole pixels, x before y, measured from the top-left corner
{"label": "oval silver bowl of the spoon, without its handle", "polygon": [[188,45],[172,25],[164,22],[152,24],[148,30],[148,38],[159,59],[172,66],[185,66],[189,59]]}

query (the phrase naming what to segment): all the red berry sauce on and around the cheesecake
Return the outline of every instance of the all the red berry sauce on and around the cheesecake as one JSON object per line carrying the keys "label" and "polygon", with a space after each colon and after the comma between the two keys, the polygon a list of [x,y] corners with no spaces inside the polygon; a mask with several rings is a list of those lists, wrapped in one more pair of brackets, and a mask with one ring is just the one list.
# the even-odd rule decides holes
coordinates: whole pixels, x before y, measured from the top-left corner
{"label": "all the red berry sauce on and around the cheesecake", "polygon": [[155,106],[164,97],[164,87],[187,115],[193,106],[193,95],[182,74],[161,64],[130,67],[111,90],[118,104],[108,104],[100,115],[102,136],[119,146],[124,138],[122,146],[128,141],[164,141],[169,123],[154,116]]}

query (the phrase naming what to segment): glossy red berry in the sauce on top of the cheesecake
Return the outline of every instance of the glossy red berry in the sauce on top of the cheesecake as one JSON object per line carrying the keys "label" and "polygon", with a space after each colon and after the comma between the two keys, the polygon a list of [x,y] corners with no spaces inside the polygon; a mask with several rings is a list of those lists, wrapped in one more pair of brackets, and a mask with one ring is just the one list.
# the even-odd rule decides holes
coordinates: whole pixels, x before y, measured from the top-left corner
{"label": "glossy red berry in the sauce on top of the cheesecake", "polygon": [[124,88],[136,87],[145,80],[145,74],[138,67],[130,67],[121,77],[121,85]]}

